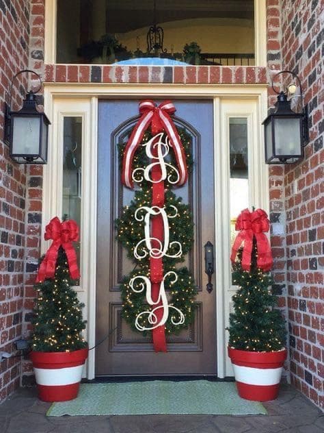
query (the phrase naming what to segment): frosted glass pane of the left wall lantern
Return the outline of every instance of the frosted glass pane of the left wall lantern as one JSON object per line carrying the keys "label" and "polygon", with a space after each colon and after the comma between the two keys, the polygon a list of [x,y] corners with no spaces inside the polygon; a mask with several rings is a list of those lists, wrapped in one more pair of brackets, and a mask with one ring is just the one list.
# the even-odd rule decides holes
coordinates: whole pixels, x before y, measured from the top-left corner
{"label": "frosted glass pane of the left wall lantern", "polygon": [[12,154],[38,155],[40,117],[12,116]]}

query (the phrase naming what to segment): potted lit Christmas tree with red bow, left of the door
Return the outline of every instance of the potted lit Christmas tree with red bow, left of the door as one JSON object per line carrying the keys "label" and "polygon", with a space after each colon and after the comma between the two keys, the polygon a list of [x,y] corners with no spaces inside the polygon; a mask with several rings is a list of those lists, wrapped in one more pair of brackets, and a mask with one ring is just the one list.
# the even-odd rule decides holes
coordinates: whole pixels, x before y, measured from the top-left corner
{"label": "potted lit Christmas tree with red bow, left of the door", "polygon": [[87,343],[81,332],[83,304],[72,288],[79,278],[72,241],[79,238],[75,221],[53,218],[45,240],[53,243],[40,262],[34,286],[38,293],[33,310],[31,360],[43,401],[66,401],[77,397]]}

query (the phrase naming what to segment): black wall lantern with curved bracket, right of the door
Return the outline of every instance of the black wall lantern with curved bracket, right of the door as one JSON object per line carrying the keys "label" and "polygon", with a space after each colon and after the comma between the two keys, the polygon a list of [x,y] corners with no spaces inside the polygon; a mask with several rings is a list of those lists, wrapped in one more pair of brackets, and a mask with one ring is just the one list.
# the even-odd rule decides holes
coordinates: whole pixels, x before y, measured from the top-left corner
{"label": "black wall lantern with curved bracket, right of the door", "polygon": [[[303,106],[303,91],[298,75],[291,71],[280,71],[275,77],[284,73],[289,73],[297,79],[301,106]],[[278,94],[275,111],[262,122],[262,125],[265,125],[266,164],[293,164],[299,158],[303,158],[303,147],[307,145],[309,140],[308,106],[306,105],[301,113],[291,110],[291,101],[288,101],[287,93],[294,95],[296,89],[295,84],[290,84],[286,92],[277,92],[273,88]]]}

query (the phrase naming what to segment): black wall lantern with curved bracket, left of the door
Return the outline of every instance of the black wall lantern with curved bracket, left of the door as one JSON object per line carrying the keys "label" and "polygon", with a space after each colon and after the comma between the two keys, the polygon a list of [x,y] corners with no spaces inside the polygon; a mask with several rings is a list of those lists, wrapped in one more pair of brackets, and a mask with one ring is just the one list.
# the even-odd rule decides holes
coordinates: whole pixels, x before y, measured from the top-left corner
{"label": "black wall lantern with curved bracket, left of the door", "polygon": [[[19,111],[11,111],[12,86],[14,79],[21,73],[33,73],[40,81],[36,92],[27,92],[23,107]],[[4,141],[10,147],[10,158],[19,164],[46,164],[49,125],[46,114],[37,110],[36,93],[42,87],[40,75],[29,69],[14,75],[10,87],[10,106],[5,103]]]}

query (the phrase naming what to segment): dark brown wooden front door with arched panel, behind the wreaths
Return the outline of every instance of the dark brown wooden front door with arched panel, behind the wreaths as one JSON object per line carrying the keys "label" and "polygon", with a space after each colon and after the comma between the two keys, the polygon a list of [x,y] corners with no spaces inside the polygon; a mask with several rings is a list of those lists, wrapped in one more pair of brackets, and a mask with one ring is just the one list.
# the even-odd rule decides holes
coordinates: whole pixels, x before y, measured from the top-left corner
{"label": "dark brown wooden front door with arched panel, behind the wreaths", "polygon": [[[156,101],[159,103],[159,101]],[[193,214],[194,242],[185,258],[198,295],[193,323],[167,336],[167,352],[155,352],[150,334],[131,329],[122,317],[120,283],[134,264],[116,240],[116,219],[134,197],[122,186],[118,147],[126,143],[139,117],[135,100],[99,101],[98,236],[96,286],[96,375],[216,375],[215,274],[206,286],[204,245],[215,247],[213,101],[173,101],[176,127],[189,136],[193,168],[187,184],[173,191]],[[214,251],[217,253],[217,251]],[[215,265],[214,265],[215,267]],[[109,334],[108,338],[105,338]]]}

